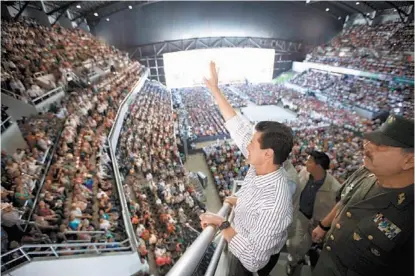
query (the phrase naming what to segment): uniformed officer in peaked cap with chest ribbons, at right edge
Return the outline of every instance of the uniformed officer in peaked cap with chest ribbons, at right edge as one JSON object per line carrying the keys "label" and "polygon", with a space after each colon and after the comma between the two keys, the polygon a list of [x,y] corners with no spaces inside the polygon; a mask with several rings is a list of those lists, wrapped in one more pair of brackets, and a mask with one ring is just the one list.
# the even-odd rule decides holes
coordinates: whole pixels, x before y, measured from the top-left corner
{"label": "uniformed officer in peaked cap with chest ribbons, at right edge", "polygon": [[364,137],[364,167],[313,231],[331,224],[315,276],[414,275],[414,121],[391,115]]}

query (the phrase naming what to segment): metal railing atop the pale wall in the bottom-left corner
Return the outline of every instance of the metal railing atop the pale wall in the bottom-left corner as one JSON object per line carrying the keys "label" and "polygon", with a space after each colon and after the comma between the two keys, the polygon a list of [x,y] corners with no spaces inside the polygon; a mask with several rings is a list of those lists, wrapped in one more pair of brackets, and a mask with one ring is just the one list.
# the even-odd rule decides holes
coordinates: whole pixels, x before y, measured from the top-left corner
{"label": "metal railing atop the pale wall in the bottom-left corner", "polygon": [[[42,249],[44,249],[44,251],[42,251]],[[3,269],[6,270],[9,265],[17,263],[19,260],[21,260],[18,262],[19,264],[30,262],[34,257],[54,256],[59,259],[72,254],[100,255],[109,251],[130,250],[131,244],[128,239],[122,242],[23,245],[1,255],[1,269],[2,271]],[[20,256],[16,256],[16,254]]]}

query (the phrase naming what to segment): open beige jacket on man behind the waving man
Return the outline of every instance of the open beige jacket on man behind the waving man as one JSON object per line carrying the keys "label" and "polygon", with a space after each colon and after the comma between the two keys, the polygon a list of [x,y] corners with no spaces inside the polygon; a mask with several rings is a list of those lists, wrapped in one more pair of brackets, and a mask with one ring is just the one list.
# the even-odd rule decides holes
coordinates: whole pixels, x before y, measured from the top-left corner
{"label": "open beige jacket on man behind the waving man", "polygon": [[[300,196],[309,178],[310,173],[307,172],[307,169],[304,167],[298,174],[298,187],[293,198],[294,214],[300,211]],[[331,174],[326,173],[326,179],[318,190],[316,199],[314,201],[312,218],[314,221],[324,219],[325,216],[327,216],[327,214],[331,211],[331,209],[333,209],[334,205],[336,205],[336,196],[340,186],[340,183]]]}

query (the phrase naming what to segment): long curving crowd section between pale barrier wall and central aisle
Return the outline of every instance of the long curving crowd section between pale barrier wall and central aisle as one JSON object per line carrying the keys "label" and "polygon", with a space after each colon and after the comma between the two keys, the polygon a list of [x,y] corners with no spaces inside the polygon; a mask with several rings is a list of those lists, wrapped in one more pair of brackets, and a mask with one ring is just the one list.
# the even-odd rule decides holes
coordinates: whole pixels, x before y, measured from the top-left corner
{"label": "long curving crowd section between pale barrier wall and central aisle", "polygon": [[152,250],[165,275],[191,243],[185,228],[200,229],[204,206],[180,163],[171,96],[147,82],[129,107],[120,135],[120,171],[139,253]]}

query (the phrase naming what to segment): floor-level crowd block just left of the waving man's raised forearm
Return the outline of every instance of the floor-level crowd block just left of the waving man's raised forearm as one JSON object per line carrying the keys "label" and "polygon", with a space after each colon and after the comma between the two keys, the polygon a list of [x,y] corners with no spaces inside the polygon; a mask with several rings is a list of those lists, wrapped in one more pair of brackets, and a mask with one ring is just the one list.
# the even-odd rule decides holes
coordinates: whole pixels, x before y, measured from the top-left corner
{"label": "floor-level crowd block just left of the waving man's raised forearm", "polygon": [[204,87],[181,88],[173,93],[180,95],[184,107],[188,133],[192,139],[227,135],[222,115]]}

